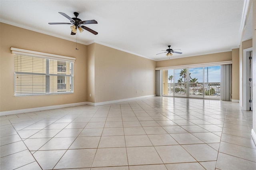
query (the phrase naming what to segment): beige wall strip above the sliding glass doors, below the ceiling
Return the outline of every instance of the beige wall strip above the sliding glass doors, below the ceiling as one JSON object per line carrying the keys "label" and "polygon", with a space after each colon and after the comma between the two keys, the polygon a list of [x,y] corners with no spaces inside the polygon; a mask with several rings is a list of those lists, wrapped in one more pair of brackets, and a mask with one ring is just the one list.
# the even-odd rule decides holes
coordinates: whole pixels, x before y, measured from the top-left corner
{"label": "beige wall strip above the sliding glass doors, below the ceiling", "polygon": [[171,67],[171,66],[178,66],[178,65],[213,63],[213,62],[231,61],[231,60],[232,60],[232,51],[228,51],[223,53],[197,55],[192,57],[157,61],[156,67]]}

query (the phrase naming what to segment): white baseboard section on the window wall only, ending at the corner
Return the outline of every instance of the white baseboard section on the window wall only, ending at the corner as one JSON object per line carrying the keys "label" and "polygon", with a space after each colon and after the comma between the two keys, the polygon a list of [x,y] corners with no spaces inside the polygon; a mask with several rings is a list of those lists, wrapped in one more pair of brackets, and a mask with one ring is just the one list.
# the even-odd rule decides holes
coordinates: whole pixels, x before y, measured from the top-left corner
{"label": "white baseboard section on the window wall only, ending at the corner", "polygon": [[80,105],[86,105],[87,102],[80,102],[80,103],[70,103],[65,105],[54,105],[54,106],[45,106],[45,107],[36,107],[36,108],[30,108],[30,109],[20,109],[20,110],[14,110],[14,111],[3,111],[0,112],[0,116],[5,115],[14,115],[19,113],[28,113],[28,112],[36,112],[36,111],[44,111],[44,110],[50,110],[50,109],[60,109],[64,107],[73,107],[73,106],[80,106]]}

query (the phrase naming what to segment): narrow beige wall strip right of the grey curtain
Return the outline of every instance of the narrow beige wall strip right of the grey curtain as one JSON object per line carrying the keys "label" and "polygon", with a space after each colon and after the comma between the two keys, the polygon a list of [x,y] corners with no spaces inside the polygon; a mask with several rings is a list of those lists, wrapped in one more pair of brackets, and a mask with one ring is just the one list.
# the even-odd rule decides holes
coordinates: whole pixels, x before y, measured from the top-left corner
{"label": "narrow beige wall strip right of the grey curtain", "polygon": [[232,49],[232,99],[239,100],[239,48]]}

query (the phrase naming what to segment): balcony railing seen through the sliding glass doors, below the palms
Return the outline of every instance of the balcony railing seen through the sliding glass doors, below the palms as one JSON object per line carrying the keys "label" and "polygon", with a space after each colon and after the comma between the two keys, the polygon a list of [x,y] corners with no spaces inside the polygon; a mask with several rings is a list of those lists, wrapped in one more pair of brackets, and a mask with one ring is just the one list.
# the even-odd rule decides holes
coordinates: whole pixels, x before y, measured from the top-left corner
{"label": "balcony railing seen through the sliding glass doors, below the palms", "polygon": [[[168,83],[168,95],[184,96],[187,83]],[[190,97],[220,98],[220,83],[189,83]]]}

